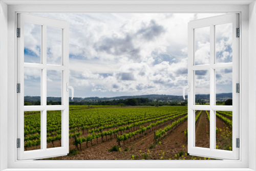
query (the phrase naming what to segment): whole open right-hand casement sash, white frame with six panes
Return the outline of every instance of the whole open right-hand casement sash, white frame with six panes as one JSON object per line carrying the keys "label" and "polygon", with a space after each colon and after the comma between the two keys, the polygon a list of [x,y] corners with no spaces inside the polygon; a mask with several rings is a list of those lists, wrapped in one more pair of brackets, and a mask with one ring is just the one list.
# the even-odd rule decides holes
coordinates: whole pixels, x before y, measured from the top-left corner
{"label": "whole open right-hand casement sash, white frame with six panes", "polygon": [[[225,14],[188,23],[189,155],[239,159],[238,28],[239,14]],[[226,102],[220,105],[219,95],[225,90],[229,94],[232,92],[232,101],[229,105]],[[197,94],[205,94],[204,99],[198,99]],[[197,116],[206,117],[209,122],[208,139],[200,139],[197,126],[207,126],[207,123],[196,123],[200,120]],[[220,128],[219,124],[224,126]]]}

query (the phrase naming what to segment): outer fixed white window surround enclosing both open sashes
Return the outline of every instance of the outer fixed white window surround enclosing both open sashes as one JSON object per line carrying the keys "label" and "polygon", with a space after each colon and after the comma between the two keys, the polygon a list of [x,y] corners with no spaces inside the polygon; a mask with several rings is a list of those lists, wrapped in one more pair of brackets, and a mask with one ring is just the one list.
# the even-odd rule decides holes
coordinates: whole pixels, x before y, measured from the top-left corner
{"label": "outer fixed white window surround enclosing both open sashes", "polygon": [[[7,8],[5,3],[18,3],[19,5],[10,5]],[[4,20],[4,24],[0,25],[0,169],[7,170],[39,170],[38,168],[46,168],[47,170],[75,170],[75,168],[90,168],[120,170],[120,168],[131,168],[131,170],[143,169],[144,170],[255,170],[256,169],[256,136],[255,136],[255,83],[256,83],[256,69],[255,69],[255,46],[256,46],[256,14],[255,2],[253,1],[217,1],[217,2],[202,2],[198,1],[170,1],[170,2],[120,2],[119,5],[106,1],[98,2],[101,4],[93,5],[95,2],[86,2],[87,4],[81,5],[49,5],[54,1],[40,1],[38,4],[48,5],[20,5],[23,3],[35,3],[31,1],[5,1],[1,2],[0,20]],[[72,4],[72,2],[69,2]],[[77,3],[74,1],[74,4]],[[108,4],[109,3],[109,4]],[[162,4],[161,4],[162,3]],[[168,5],[169,3],[169,5]],[[221,4],[218,4],[221,3]],[[232,3],[237,3],[234,5]],[[245,4],[247,3],[247,4]],[[248,5],[248,3],[252,3]],[[112,4],[112,5],[110,5]],[[114,5],[113,5],[114,4]],[[122,5],[120,5],[122,4]],[[183,4],[183,5],[177,5]],[[189,5],[190,4],[190,5]],[[193,5],[191,5],[193,4]],[[212,5],[215,4],[215,5]],[[224,4],[224,5],[223,5]],[[226,5],[225,5],[226,4]],[[240,4],[240,5],[238,5]],[[243,5],[245,4],[245,5]],[[8,10],[8,11],[7,11]],[[17,161],[16,153],[16,14],[18,12],[83,12],[83,13],[115,13],[115,12],[130,12],[130,13],[222,13],[222,12],[238,12],[240,13],[240,78],[241,78],[241,94],[240,94],[240,160],[223,160],[223,161]],[[249,13],[248,13],[249,12]],[[7,22],[8,15],[8,22]],[[8,29],[7,29],[8,24]],[[8,37],[6,36],[8,34]],[[3,45],[3,42],[8,42]],[[250,42],[250,44],[249,44]],[[8,47],[4,49],[3,47]],[[6,56],[8,55],[8,60]],[[4,56],[4,57],[3,57]],[[2,66],[7,65],[7,67]],[[8,75],[6,73],[8,72]],[[250,79],[249,79],[250,78]],[[2,84],[3,83],[3,84]],[[250,83],[250,84],[248,84]],[[249,86],[248,86],[249,85]],[[6,91],[2,88],[8,88]],[[250,92],[253,93],[249,93]],[[5,100],[8,99],[7,107],[4,106]],[[250,100],[249,100],[250,99]],[[248,105],[249,104],[249,105]],[[7,112],[7,113],[4,113]],[[8,114],[8,115],[6,115]],[[242,117],[243,116],[243,117]],[[7,131],[6,131],[7,128]],[[250,136],[248,131],[252,130]],[[13,134],[15,133],[15,134]],[[7,149],[6,146],[8,145]],[[6,158],[7,156],[7,158]],[[61,169],[62,168],[62,169]],[[70,169],[69,169],[70,168]],[[73,168],[73,169],[72,169]],[[113,168],[113,169],[111,169]],[[119,168],[119,169],[118,169]],[[77,169],[76,169],[77,170]],[[95,170],[95,169],[94,169]],[[127,170],[127,169],[126,169]]]}

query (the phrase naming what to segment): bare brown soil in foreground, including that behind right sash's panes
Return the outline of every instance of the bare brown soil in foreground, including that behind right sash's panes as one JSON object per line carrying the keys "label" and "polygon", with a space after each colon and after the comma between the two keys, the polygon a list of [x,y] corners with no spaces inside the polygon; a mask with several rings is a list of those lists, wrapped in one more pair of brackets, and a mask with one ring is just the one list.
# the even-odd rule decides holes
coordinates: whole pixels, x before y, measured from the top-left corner
{"label": "bare brown soil in foreground, including that behind right sash's panes", "polygon": [[[200,111],[198,111],[200,112]],[[168,123],[170,124],[170,122]],[[158,129],[164,129],[168,124],[160,126]],[[216,127],[225,129],[226,124],[221,121],[218,117],[216,118]],[[78,154],[70,156],[55,157],[50,159],[55,160],[130,160],[130,159],[203,159],[202,157],[195,157],[187,155],[187,140],[184,131],[187,129],[187,120],[183,121],[178,127],[173,130],[170,134],[163,137],[160,142],[154,144],[154,131],[143,135],[142,137],[134,137],[127,140],[125,144],[121,143],[120,151],[110,152],[108,149],[114,145],[118,145],[116,139],[112,136],[103,138],[101,137],[91,142],[88,142],[88,148],[86,142],[82,143],[81,151],[79,146]],[[202,111],[201,116],[196,124],[196,145],[202,147],[209,147],[209,121],[205,111]],[[217,139],[219,134],[217,134]],[[204,141],[204,142],[202,142]],[[57,145],[57,144],[56,144]],[[74,149],[74,145],[70,140],[70,149]]]}

